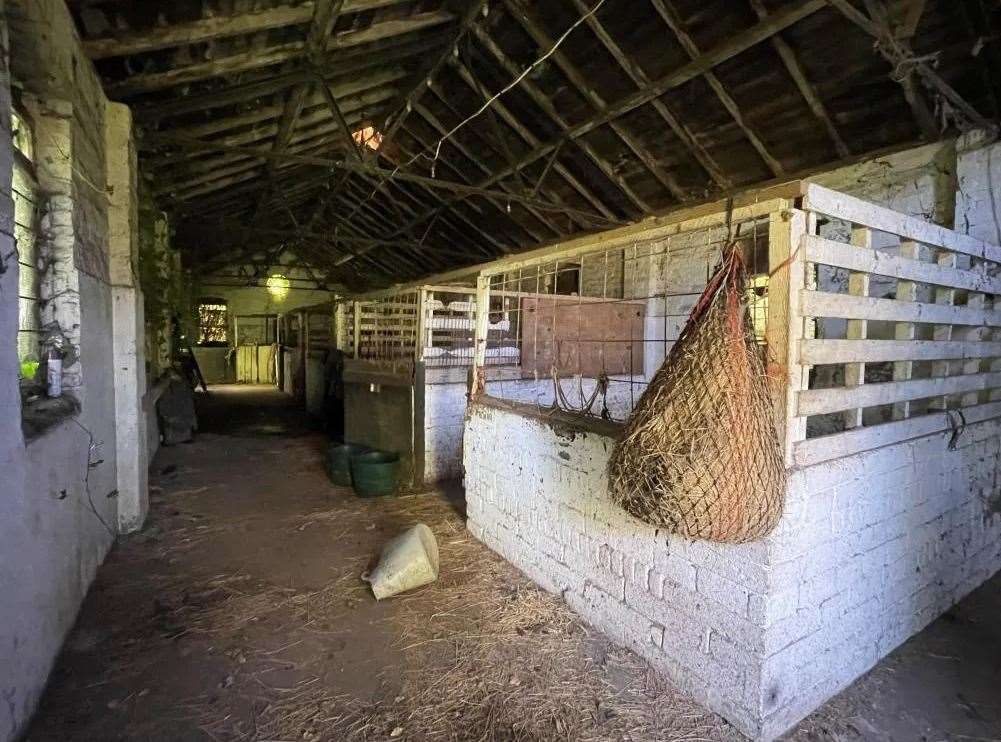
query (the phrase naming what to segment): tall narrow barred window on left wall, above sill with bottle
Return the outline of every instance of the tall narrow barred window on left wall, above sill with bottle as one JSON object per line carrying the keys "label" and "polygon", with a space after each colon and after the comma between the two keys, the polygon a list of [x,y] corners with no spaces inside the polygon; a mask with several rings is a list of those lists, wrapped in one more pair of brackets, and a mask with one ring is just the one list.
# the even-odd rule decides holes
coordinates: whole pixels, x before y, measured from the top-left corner
{"label": "tall narrow barred window on left wall, above sill with bottle", "polygon": [[19,378],[31,381],[41,360],[41,270],[38,249],[38,181],[35,177],[35,137],[28,116],[20,107],[11,114],[14,150],[14,243],[19,278],[17,284],[17,359]]}

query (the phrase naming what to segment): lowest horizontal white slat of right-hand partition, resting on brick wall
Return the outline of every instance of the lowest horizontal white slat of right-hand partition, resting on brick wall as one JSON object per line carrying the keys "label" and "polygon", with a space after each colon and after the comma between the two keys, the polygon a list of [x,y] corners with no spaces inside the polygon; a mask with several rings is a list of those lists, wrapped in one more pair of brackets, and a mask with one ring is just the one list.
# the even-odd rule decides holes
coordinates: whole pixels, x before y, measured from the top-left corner
{"label": "lowest horizontal white slat of right-hand partition, resting on brick wall", "polygon": [[[983,423],[1001,417],[1001,403],[993,402],[964,408],[963,416],[967,425]],[[952,423],[945,413],[922,415],[896,423],[884,423],[869,428],[857,428],[845,433],[821,436],[801,441],[793,448],[793,464],[797,467],[811,467],[815,464],[841,459],[852,454],[892,446],[923,436],[948,432]],[[943,450],[945,444],[943,442]]]}

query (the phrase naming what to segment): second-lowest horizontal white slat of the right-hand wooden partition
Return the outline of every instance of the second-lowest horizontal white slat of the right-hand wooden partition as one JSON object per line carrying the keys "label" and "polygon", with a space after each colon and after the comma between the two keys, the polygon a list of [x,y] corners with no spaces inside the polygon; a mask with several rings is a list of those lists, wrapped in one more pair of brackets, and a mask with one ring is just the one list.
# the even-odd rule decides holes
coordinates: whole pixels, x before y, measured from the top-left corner
{"label": "second-lowest horizontal white slat of the right-hand wooden partition", "polygon": [[892,405],[905,400],[923,400],[1001,387],[1001,372],[967,374],[939,379],[865,384],[859,387],[800,392],[797,412],[801,417],[840,413],[843,410]]}

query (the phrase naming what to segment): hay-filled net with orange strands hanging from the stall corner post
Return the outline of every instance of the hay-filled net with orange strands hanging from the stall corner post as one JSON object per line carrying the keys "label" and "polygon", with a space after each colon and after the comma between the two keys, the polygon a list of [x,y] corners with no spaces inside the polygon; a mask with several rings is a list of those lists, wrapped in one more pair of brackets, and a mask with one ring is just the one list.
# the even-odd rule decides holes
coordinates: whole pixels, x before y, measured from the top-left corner
{"label": "hay-filled net with orange strands hanging from the stall corner post", "polygon": [[786,469],[736,245],[626,425],[609,464],[627,512],[691,539],[743,543],[782,515]]}

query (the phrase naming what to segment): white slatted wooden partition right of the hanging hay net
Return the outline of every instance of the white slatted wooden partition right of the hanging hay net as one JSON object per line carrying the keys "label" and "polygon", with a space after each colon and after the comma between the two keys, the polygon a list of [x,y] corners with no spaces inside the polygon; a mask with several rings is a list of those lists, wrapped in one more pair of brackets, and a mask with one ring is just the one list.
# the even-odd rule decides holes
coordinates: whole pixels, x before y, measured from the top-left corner
{"label": "white slatted wooden partition right of the hanging hay net", "polygon": [[769,320],[791,466],[1001,416],[1001,247],[817,185],[795,213],[773,216]]}

